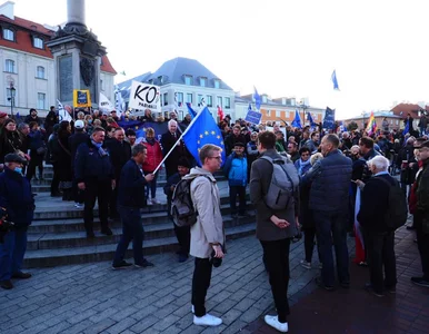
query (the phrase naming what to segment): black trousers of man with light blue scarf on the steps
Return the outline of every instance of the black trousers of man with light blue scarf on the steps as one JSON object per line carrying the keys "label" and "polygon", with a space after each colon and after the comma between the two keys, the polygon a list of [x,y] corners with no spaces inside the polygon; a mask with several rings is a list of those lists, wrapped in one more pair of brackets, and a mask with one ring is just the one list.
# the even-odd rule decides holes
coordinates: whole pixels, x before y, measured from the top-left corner
{"label": "black trousers of man with light blue scarf on the steps", "polygon": [[109,199],[111,194],[110,180],[86,180],[84,181],[84,209],[83,220],[87,232],[93,230],[93,206],[98,199],[98,212],[101,229],[108,227]]}

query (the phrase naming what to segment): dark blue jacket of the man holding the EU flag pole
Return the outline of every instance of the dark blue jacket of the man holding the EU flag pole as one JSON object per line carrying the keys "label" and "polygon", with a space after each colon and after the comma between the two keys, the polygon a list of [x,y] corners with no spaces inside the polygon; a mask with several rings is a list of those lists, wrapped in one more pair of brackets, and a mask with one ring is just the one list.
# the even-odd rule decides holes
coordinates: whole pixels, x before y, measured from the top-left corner
{"label": "dark blue jacket of the man holding the EU flag pole", "polygon": [[133,159],[122,167],[121,181],[118,188],[118,205],[140,208],[146,206],[144,186],[146,180],[141,166]]}

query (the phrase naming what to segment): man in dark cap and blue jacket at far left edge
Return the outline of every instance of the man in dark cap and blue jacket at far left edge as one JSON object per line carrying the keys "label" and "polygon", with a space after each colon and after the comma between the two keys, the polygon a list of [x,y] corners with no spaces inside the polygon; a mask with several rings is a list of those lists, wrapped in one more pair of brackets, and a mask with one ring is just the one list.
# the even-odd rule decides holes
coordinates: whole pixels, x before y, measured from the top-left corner
{"label": "man in dark cap and blue jacket at far left edge", "polygon": [[[30,181],[22,176],[22,166],[27,160],[17,154],[4,157],[4,173],[0,174],[0,208],[7,218],[13,222],[13,229],[4,235],[0,244],[0,286],[13,288],[11,278],[30,278],[22,272],[22,262],[27,249],[27,228],[33,219],[34,199]],[[0,217],[3,218],[3,217]]]}

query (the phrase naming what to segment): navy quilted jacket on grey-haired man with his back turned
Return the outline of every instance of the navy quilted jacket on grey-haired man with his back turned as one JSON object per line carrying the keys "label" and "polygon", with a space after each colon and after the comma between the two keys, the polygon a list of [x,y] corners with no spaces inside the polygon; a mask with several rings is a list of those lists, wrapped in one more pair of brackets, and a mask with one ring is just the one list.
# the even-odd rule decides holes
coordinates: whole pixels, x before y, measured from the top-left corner
{"label": "navy quilted jacket on grey-haired man with his back turned", "polygon": [[338,149],[316,161],[303,176],[305,184],[312,181],[309,208],[320,212],[343,212],[348,209],[351,159]]}

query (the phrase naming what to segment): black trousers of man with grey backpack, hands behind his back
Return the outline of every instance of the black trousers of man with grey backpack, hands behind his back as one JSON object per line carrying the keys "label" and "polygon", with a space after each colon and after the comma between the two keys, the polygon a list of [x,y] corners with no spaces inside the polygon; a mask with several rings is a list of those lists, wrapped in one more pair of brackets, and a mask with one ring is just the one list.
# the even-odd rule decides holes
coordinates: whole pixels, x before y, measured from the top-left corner
{"label": "black trousers of man with grey backpack, hands behind his back", "polygon": [[286,323],[290,314],[288,302],[290,239],[260,240],[260,243],[279,322]]}

